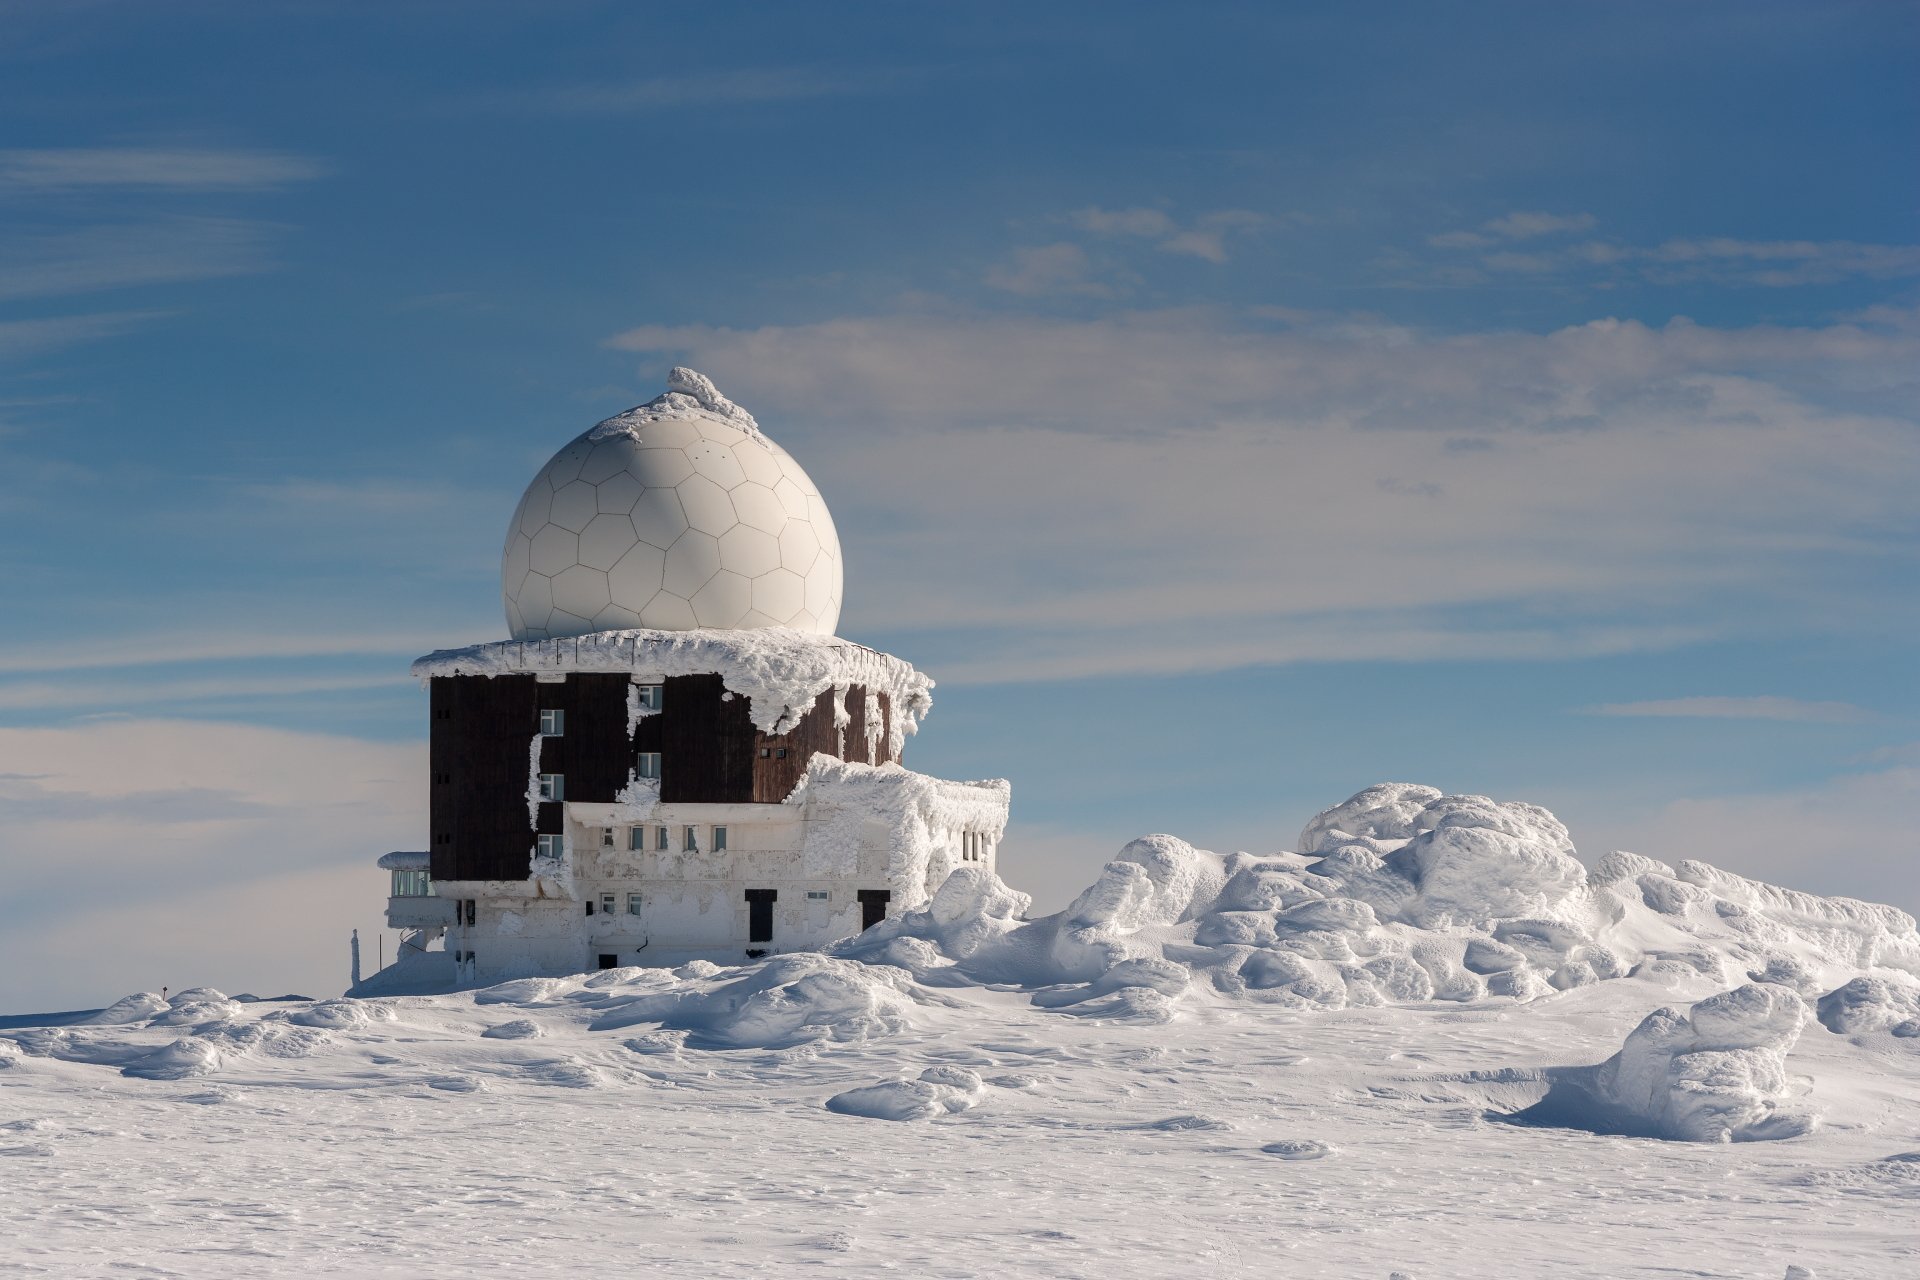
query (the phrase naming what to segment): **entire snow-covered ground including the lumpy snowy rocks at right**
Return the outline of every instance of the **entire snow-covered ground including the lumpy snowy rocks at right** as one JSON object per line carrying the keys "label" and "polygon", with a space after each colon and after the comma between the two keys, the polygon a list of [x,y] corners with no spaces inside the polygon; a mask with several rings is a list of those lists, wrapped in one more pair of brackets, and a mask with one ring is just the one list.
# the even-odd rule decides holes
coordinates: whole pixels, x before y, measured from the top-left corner
{"label": "entire snow-covered ground including the lumpy snowy rocks at right", "polygon": [[0,1278],[1920,1274],[1910,917],[1428,791],[1041,921],[10,1019]]}

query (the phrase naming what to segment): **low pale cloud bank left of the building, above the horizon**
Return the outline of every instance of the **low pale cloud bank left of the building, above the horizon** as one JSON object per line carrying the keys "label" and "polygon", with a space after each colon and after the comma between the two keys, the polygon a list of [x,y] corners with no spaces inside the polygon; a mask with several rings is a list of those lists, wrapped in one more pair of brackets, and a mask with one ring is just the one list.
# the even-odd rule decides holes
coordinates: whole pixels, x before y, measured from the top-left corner
{"label": "low pale cloud bank left of the building, above the horizon", "polygon": [[129,990],[330,994],[372,860],[422,846],[426,750],[184,720],[0,729],[0,1011]]}

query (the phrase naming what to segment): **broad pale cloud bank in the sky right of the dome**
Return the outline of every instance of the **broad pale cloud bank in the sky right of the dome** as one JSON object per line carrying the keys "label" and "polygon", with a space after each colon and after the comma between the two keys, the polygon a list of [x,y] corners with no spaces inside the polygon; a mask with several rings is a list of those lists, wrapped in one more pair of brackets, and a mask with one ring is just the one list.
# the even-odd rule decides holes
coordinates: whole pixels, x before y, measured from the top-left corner
{"label": "broad pale cloud bank in the sky right of the dome", "polygon": [[849,545],[852,626],[964,635],[948,679],[1912,622],[1832,572],[1920,533],[1920,436],[1889,409],[1914,391],[1910,326],[1434,336],[1162,311],[612,345],[799,432],[841,524],[874,532]]}

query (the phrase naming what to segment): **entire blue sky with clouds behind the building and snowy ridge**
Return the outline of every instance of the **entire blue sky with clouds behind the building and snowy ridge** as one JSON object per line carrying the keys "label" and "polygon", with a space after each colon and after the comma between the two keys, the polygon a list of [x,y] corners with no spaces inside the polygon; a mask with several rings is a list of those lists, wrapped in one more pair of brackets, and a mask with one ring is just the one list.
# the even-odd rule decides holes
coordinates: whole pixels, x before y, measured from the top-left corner
{"label": "entire blue sky with clouds behind the building and snowy ridge", "polygon": [[407,660],[503,633],[520,487],[674,363],[820,482],[1046,906],[1388,777],[1920,906],[1916,44],[0,0],[0,969],[63,975],[0,1007],[336,983]]}

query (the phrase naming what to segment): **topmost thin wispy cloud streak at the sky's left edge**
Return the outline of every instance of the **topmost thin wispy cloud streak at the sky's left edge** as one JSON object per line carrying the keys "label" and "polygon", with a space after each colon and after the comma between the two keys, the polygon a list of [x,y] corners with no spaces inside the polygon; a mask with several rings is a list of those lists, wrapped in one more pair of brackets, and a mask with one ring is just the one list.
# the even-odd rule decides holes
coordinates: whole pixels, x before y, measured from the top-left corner
{"label": "topmost thin wispy cloud streak at the sky's left edge", "polygon": [[0,152],[0,192],[259,192],[326,177],[309,155],[213,148],[40,148]]}

